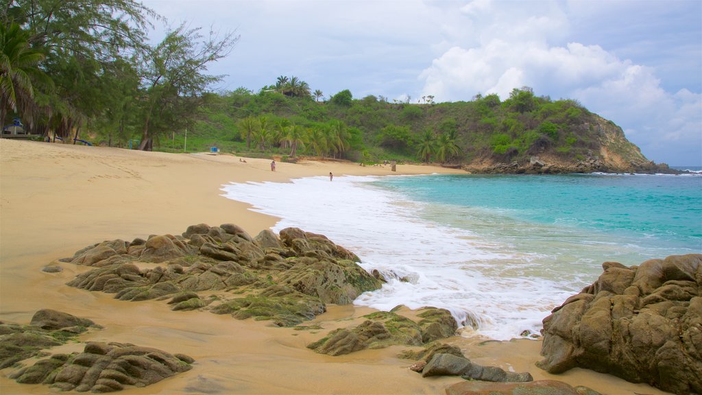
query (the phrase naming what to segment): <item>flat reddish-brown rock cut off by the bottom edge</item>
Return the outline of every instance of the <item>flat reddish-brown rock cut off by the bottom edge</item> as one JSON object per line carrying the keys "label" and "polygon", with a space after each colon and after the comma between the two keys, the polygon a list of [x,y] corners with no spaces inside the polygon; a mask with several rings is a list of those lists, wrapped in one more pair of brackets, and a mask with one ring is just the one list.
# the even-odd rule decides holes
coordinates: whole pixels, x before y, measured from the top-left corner
{"label": "flat reddish-brown rock cut off by the bottom edge", "polygon": [[600,395],[588,387],[571,387],[555,380],[503,383],[467,381],[446,388],[446,395]]}

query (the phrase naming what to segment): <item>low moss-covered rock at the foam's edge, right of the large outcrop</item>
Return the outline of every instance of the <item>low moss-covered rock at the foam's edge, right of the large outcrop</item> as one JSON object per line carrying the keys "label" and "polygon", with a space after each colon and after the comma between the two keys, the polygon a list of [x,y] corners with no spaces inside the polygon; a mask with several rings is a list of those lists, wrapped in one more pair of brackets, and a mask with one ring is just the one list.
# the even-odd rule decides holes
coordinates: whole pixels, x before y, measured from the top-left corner
{"label": "low moss-covered rock at the foam's edge, right of the large outcrop", "polygon": [[458,325],[448,310],[425,307],[420,311],[418,322],[394,311],[371,313],[363,316],[366,320],[361,325],[333,330],[307,348],[319,354],[338,356],[392,344],[420,346],[455,335]]}

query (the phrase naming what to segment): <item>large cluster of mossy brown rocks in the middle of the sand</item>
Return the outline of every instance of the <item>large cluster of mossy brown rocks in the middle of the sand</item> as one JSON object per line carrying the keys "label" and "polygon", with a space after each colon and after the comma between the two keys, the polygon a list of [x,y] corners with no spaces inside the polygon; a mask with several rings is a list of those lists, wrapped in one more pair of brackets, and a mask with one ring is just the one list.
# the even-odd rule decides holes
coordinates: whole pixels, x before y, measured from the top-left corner
{"label": "large cluster of mossy brown rocks in the middle of the sand", "polygon": [[[95,267],[70,281],[73,287],[133,302],[170,299],[176,311],[209,310],[279,326],[298,325],[326,311],[326,303],[349,304],[381,285],[355,254],[299,228],[252,238],[234,224],[198,224],[179,236],[97,243],[62,261]],[[201,298],[203,291],[220,293]]]}

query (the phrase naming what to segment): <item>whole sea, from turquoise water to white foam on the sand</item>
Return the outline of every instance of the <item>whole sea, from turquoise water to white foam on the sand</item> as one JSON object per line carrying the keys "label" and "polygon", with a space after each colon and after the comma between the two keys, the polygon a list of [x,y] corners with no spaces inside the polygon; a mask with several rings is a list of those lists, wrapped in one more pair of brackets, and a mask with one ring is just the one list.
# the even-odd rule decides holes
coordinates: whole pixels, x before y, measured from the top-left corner
{"label": "whole sea, from turquoise water to white foam on the sand", "polygon": [[383,273],[388,283],[355,304],[448,309],[465,337],[538,334],[604,261],[702,253],[702,173],[338,176],[222,190],[281,218],[273,231],[324,234]]}

